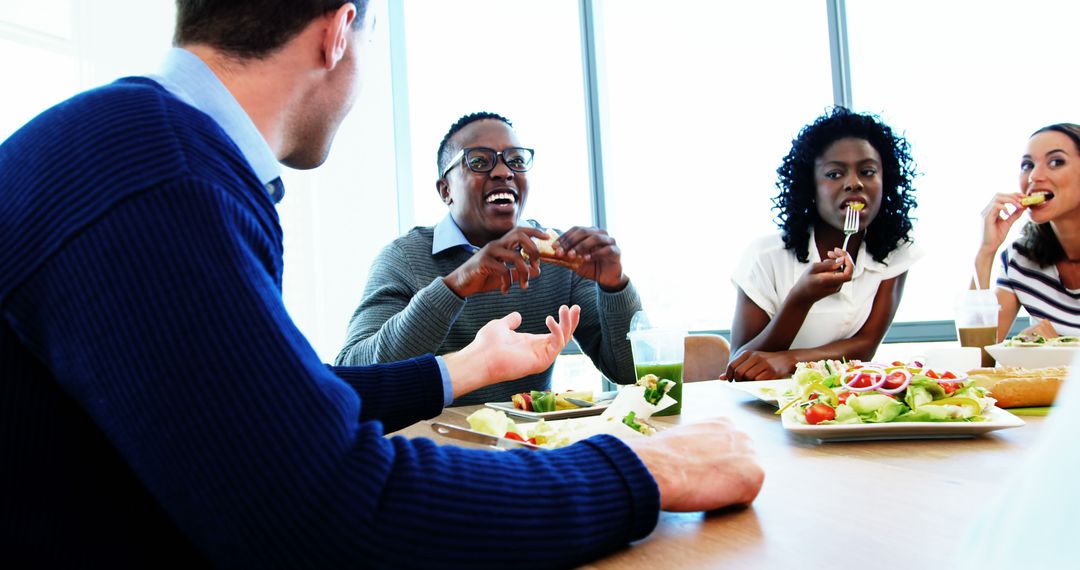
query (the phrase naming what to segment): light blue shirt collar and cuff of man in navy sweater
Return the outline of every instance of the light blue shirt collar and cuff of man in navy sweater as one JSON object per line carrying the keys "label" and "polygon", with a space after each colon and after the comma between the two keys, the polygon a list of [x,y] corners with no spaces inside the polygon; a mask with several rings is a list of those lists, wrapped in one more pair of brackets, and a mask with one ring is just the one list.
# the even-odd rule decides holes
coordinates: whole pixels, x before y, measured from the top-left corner
{"label": "light blue shirt collar and cuff of man in navy sweater", "polygon": [[[281,184],[281,164],[278,158],[273,155],[270,145],[262,138],[262,133],[259,133],[247,111],[199,56],[183,48],[173,48],[165,56],[161,73],[148,77],[176,98],[208,114],[247,159],[255,176],[266,187],[274,203],[281,201],[285,187]],[[454,228],[457,229],[457,226]],[[457,231],[461,234],[461,230]],[[464,234],[461,234],[461,239],[464,240]],[[443,357],[435,356],[435,362],[438,363],[438,374],[443,378],[443,406],[446,407],[454,402],[454,384]]]}

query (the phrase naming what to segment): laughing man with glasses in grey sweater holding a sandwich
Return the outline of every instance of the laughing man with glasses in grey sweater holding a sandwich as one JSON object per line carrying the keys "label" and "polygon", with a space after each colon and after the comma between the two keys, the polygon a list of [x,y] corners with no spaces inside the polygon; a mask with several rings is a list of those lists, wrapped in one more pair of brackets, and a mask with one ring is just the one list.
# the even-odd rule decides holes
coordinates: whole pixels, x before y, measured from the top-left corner
{"label": "laughing man with glasses in grey sweater holding a sandwich", "polygon": [[[544,264],[541,270],[534,239],[546,234],[537,221],[522,219],[535,154],[510,121],[495,113],[469,114],[450,127],[438,147],[435,180],[449,213],[379,254],[338,364],[453,352],[491,315],[511,311],[522,313],[519,331],[540,332],[551,308],[577,303],[578,344],[611,380],[635,380],[626,331],[642,303],[622,272],[615,240],[596,228],[571,228],[556,249],[577,269]],[[518,392],[546,390],[551,372],[485,386],[453,404],[509,401]]]}

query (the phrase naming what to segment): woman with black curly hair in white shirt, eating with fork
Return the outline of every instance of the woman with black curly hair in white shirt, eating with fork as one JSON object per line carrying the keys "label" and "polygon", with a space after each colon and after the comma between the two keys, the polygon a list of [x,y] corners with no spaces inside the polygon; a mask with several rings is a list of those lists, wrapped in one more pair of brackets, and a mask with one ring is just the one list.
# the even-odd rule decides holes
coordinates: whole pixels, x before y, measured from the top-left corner
{"label": "woman with black curly hair in white shirt, eating with fork", "polygon": [[[751,244],[738,287],[725,377],[791,376],[798,362],[868,359],[896,314],[913,245],[915,162],[876,117],[836,107],[805,126],[777,169],[780,233]],[[847,252],[847,209],[859,230]]]}

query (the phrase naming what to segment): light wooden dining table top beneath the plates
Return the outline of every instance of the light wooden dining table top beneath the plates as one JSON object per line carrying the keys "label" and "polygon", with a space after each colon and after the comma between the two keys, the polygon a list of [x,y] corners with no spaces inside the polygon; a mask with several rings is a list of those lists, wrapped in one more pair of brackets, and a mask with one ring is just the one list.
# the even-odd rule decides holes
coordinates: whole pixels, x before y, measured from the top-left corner
{"label": "light wooden dining table top beneath the plates", "polygon": [[[481,407],[446,408],[431,421],[468,426]],[[765,470],[760,494],[748,506],[662,512],[648,537],[585,568],[947,567],[1045,421],[1024,417],[1020,428],[966,438],[841,443],[789,433],[775,411],[729,382],[687,383],[681,413],[650,421],[664,429],[730,418]],[[388,435],[483,447],[438,435],[431,421]]]}

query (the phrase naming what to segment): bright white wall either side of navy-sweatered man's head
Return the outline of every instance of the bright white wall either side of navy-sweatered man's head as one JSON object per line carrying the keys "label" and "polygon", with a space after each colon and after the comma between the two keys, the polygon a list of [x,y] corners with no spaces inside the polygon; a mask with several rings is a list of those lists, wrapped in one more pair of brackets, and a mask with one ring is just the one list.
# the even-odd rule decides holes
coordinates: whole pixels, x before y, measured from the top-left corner
{"label": "bright white wall either side of navy-sweatered man's head", "polygon": [[[328,362],[372,259],[397,235],[387,6],[372,4],[383,21],[365,89],[326,164],[285,173],[279,206],[285,304]],[[174,17],[172,0],[0,0],[0,140],[79,91],[154,72],[171,46]]]}

